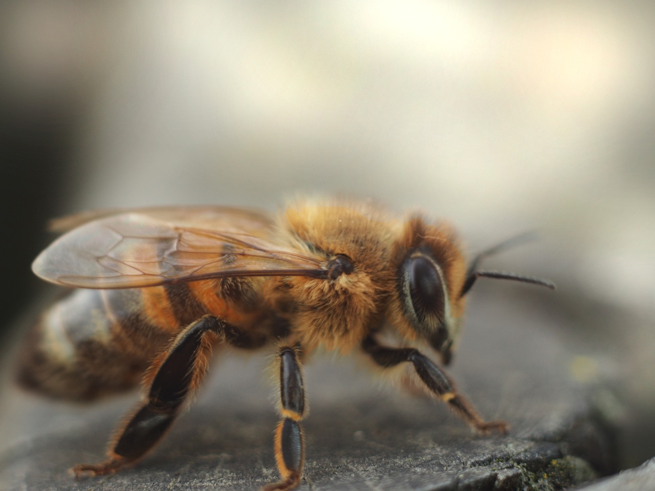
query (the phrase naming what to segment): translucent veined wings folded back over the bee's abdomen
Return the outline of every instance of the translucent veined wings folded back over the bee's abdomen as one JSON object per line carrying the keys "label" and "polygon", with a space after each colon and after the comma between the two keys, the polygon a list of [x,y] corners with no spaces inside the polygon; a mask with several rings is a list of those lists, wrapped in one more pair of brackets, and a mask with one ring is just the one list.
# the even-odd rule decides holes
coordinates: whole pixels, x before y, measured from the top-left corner
{"label": "translucent veined wings folded back over the bee's abdomen", "polygon": [[135,288],[225,276],[321,276],[322,260],[277,238],[263,213],[151,208],[88,221],[32,264],[44,280],[80,288]]}

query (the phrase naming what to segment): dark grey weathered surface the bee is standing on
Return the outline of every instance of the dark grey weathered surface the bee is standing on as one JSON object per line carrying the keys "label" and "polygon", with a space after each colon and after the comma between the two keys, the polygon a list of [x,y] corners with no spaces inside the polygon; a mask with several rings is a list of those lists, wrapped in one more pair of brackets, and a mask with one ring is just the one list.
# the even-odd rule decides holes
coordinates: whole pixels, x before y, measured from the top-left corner
{"label": "dark grey weathered surface the bee is standing on", "polygon": [[[612,422],[598,403],[607,388],[575,369],[580,357],[540,300],[552,294],[488,291],[472,299],[449,373],[485,418],[510,422],[510,433],[472,434],[440,402],[371,383],[352,358],[316,357],[305,374],[311,414],[299,489],[548,490],[615,470]],[[133,469],[79,482],[67,469],[102,460],[136,394],[79,407],[5,388],[0,488],[256,490],[278,477],[268,364],[265,355],[217,363],[206,390],[151,455]]]}

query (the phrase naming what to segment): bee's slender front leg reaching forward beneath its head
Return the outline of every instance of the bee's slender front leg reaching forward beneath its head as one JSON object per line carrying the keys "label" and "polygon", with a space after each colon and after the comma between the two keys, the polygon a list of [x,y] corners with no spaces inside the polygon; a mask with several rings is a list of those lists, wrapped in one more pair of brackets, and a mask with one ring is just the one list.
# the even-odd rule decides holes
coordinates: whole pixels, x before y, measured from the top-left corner
{"label": "bee's slender front leg reaching forward beneath its head", "polygon": [[507,432],[509,425],[506,422],[483,420],[466,397],[457,392],[450,377],[419,350],[381,346],[371,336],[362,342],[362,349],[371,356],[375,363],[384,368],[394,367],[405,361],[411,363],[430,393],[448,403],[470,427],[483,433],[491,429],[497,429],[501,433]]}

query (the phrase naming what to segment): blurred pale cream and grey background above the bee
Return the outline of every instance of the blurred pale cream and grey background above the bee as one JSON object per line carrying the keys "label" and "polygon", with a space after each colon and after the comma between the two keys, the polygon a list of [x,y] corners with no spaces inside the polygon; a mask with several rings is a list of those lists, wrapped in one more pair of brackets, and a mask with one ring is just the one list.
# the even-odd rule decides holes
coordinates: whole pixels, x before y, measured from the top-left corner
{"label": "blurred pale cream and grey background above the bee", "polygon": [[[0,6],[0,328],[47,219],[338,193],[453,221],[551,278],[582,376],[655,454],[655,11],[646,1]],[[494,267],[491,267],[494,266]],[[476,287],[477,288],[477,287]],[[641,460],[640,460],[641,459]]]}

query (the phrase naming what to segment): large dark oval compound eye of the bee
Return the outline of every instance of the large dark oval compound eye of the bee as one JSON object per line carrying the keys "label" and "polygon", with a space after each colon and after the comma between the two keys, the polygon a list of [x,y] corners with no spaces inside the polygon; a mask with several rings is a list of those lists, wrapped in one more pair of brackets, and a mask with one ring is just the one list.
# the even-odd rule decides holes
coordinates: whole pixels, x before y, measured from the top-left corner
{"label": "large dark oval compound eye of the bee", "polygon": [[[443,319],[445,295],[438,266],[423,255],[409,257],[403,264],[405,294],[416,321],[428,327]],[[407,298],[405,298],[407,302]]]}

